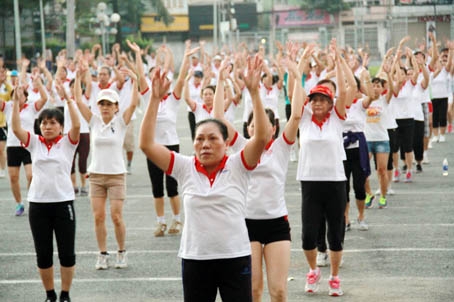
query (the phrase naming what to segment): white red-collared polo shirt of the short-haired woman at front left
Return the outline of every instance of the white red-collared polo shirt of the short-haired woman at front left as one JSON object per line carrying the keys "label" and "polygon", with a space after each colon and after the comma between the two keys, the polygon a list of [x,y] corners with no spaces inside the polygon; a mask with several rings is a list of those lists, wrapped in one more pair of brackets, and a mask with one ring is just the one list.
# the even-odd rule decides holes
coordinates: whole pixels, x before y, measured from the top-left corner
{"label": "white red-collared polo shirt of the short-haired woman at front left", "polygon": [[78,142],[68,135],[57,137],[46,144],[42,136],[28,132],[25,148],[32,158],[33,178],[28,190],[28,201],[63,202],[74,200],[71,165]]}

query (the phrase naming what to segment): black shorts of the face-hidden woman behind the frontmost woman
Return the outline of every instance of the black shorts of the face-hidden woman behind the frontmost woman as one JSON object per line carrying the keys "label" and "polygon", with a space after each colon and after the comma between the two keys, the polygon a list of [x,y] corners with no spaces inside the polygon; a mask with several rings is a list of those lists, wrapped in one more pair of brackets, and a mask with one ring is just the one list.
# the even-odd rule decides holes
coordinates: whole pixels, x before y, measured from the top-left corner
{"label": "black shorts of the face-hidden woman behind the frontmost woman", "polygon": [[249,241],[268,244],[276,241],[291,241],[288,216],[273,219],[246,219]]}

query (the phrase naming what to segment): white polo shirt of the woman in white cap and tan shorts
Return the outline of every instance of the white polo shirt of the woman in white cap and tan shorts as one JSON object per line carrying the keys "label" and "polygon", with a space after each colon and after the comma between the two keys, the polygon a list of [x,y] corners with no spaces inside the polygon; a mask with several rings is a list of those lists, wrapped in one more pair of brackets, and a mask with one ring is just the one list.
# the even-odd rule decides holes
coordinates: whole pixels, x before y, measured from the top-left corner
{"label": "white polo shirt of the woman in white cap and tan shorts", "polygon": [[98,115],[92,115],[90,120],[91,162],[89,173],[124,174],[126,167],[123,160],[123,142],[126,135],[126,124],[123,116],[115,115],[104,124]]}

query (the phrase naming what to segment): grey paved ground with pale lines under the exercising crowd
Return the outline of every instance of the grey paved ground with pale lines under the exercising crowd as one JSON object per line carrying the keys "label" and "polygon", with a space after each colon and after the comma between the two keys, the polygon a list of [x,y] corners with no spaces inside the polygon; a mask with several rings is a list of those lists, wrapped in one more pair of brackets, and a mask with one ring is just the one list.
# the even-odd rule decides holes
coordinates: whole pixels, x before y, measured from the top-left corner
{"label": "grey paved ground with pale lines under the exercising crowd", "polygon": [[[179,133],[182,152],[190,154],[186,112],[180,107]],[[138,125],[137,125],[138,128]],[[393,184],[396,195],[387,209],[367,210],[370,229],[353,229],[345,240],[345,264],[341,269],[345,292],[340,301],[453,301],[454,289],[454,172],[441,175],[447,157],[454,165],[454,134],[430,150],[429,165],[415,175],[412,184]],[[329,269],[323,268],[321,290],[304,293],[308,266],[301,250],[299,184],[296,163],[290,163],[286,198],[292,227],[292,259],[288,283],[289,301],[331,301]],[[377,188],[375,175],[373,188]],[[24,191],[25,194],[25,191]],[[145,158],[136,152],[133,174],[128,176],[124,215],[127,226],[129,267],[96,271],[96,240],[89,200],[78,197],[77,268],[71,290],[73,301],[182,301],[179,236],[153,237],[155,214]],[[42,301],[44,291],[35,266],[27,215],[15,217],[7,179],[0,179],[0,301]],[[170,207],[166,205],[170,219]],[[355,206],[351,217],[356,216]],[[108,248],[115,251],[112,224],[108,223]],[[54,262],[58,263],[55,256]],[[58,265],[57,265],[58,270]],[[58,274],[58,272],[57,272]],[[58,276],[57,276],[58,279]],[[60,290],[59,282],[56,289]],[[266,296],[266,295],[265,295]],[[220,301],[220,300],[219,300]],[[264,301],[269,301],[265,297]]]}

